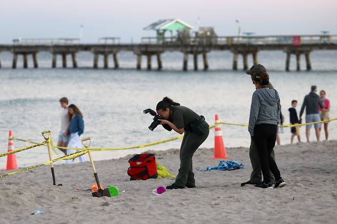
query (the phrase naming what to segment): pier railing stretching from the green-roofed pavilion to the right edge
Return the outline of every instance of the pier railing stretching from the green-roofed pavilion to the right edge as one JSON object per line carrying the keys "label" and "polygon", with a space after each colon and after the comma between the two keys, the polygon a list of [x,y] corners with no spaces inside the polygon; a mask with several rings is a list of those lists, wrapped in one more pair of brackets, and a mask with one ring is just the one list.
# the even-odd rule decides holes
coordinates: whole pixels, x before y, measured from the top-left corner
{"label": "pier railing stretching from the green-roofed pavilion to the right edge", "polygon": [[278,36],[197,36],[189,38],[174,37],[142,37],[142,44],[337,44],[337,35],[278,35]]}

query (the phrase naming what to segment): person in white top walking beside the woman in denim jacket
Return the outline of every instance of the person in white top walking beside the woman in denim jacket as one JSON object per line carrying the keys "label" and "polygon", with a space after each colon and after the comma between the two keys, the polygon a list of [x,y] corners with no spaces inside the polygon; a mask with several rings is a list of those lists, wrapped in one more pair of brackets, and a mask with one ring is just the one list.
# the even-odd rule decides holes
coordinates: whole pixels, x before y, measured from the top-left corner
{"label": "person in white top walking beside the woman in denim jacket", "polygon": [[[58,142],[57,146],[67,147],[69,142],[69,114],[68,114],[68,99],[66,97],[62,97],[60,100],[60,105],[63,108],[61,112],[61,130],[58,134]],[[66,149],[59,149],[67,155]]]}

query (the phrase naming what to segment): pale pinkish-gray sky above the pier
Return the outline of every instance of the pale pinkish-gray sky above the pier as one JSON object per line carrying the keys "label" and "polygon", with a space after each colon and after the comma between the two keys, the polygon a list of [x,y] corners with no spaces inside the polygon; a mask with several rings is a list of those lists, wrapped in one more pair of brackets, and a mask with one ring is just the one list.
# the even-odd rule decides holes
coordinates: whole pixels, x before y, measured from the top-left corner
{"label": "pale pinkish-gray sky above the pier", "polygon": [[219,36],[237,35],[238,26],[256,35],[337,34],[336,12],[335,0],[1,0],[0,43],[18,37],[79,37],[81,25],[85,43],[99,37],[139,42],[155,36],[144,27],[164,18],[194,27],[199,21]]}

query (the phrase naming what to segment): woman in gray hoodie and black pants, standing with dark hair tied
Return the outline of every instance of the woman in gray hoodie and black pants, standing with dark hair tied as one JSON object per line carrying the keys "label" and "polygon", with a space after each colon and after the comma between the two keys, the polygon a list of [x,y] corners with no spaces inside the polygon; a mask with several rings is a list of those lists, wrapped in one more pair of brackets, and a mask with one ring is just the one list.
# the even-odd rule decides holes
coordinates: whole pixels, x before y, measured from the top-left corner
{"label": "woman in gray hoodie and black pants, standing with dark hair tied", "polygon": [[256,185],[261,188],[272,188],[270,172],[275,175],[275,186],[284,187],[281,173],[270,153],[275,146],[277,126],[280,123],[280,97],[275,89],[267,87],[268,73],[252,76],[256,91],[251,98],[248,131],[257,147],[263,182]]}

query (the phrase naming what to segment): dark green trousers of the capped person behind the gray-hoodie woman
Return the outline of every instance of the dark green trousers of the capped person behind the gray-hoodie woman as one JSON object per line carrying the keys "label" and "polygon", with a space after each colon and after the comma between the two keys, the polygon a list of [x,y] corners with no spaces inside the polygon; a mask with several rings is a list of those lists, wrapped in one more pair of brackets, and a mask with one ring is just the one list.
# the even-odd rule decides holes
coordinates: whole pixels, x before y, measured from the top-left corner
{"label": "dark green trousers of the capped person behind the gray-hoodie woman", "polygon": [[[250,158],[251,167],[252,167],[252,172],[250,174],[250,182],[259,183],[262,181],[260,159],[259,159],[258,150],[252,138],[250,138],[249,158]],[[274,149],[271,150],[271,158],[275,161]],[[275,177],[271,171],[270,171],[270,179],[271,179],[271,183],[275,182]]]}

